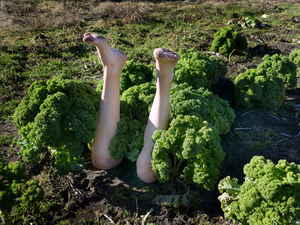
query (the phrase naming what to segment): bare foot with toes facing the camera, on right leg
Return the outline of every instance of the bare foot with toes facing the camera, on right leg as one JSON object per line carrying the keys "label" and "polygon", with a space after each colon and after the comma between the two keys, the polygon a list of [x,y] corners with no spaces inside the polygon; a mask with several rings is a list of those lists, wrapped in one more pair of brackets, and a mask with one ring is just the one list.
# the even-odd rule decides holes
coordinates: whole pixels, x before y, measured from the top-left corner
{"label": "bare foot with toes facing the camera, on right leg", "polygon": [[168,77],[171,78],[172,81],[173,71],[180,56],[163,48],[156,48],[153,55],[156,60],[156,77],[160,79]]}

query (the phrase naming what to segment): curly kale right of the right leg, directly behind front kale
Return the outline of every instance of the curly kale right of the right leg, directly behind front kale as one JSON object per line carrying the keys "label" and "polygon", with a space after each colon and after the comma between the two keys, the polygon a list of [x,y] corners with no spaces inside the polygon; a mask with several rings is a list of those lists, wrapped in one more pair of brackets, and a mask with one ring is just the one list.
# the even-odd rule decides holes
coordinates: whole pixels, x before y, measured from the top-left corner
{"label": "curly kale right of the right leg, directly behind front kale", "polygon": [[171,118],[177,115],[195,115],[226,134],[235,119],[228,101],[220,99],[202,88],[196,90],[186,85],[173,85],[170,98]]}

